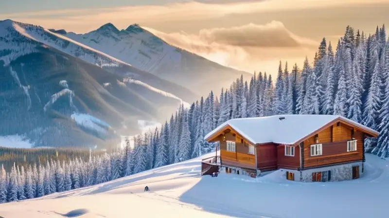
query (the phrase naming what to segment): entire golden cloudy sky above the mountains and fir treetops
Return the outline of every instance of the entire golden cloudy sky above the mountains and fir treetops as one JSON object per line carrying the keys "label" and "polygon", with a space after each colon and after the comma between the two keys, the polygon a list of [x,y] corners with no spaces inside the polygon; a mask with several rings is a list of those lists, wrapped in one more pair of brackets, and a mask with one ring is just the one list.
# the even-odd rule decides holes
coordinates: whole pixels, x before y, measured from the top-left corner
{"label": "entire golden cloudy sky above the mountains and fir treetops", "polygon": [[389,25],[389,0],[0,0],[0,20],[87,33],[138,23],[168,43],[225,66],[275,75],[312,62],[323,37],[334,49],[347,25]]}

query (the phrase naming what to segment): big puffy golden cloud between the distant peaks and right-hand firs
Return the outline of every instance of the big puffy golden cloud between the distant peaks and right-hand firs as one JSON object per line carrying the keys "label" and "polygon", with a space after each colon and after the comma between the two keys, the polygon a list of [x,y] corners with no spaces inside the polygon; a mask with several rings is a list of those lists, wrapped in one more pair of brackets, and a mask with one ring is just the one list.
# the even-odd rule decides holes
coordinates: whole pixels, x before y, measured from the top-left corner
{"label": "big puffy golden cloud between the distant peaks and right-hand firs", "polygon": [[276,63],[284,55],[297,57],[292,61],[301,59],[302,62],[306,54],[314,53],[318,47],[318,42],[291,33],[279,21],[202,29],[198,34],[164,33],[144,28],[172,45],[219,64],[247,71],[255,69],[255,65],[266,65],[261,69],[270,70],[266,62]]}

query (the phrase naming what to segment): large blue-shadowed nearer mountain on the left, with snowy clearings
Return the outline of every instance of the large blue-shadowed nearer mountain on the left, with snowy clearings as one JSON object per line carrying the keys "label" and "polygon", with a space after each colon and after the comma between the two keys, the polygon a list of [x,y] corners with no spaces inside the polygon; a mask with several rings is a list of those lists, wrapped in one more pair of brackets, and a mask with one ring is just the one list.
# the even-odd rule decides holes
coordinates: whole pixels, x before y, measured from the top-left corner
{"label": "large blue-shadowed nearer mountain on the left, with snowy clearings", "polygon": [[140,131],[139,120],[162,122],[193,97],[65,36],[0,21],[0,136],[34,146],[117,145],[120,134]]}

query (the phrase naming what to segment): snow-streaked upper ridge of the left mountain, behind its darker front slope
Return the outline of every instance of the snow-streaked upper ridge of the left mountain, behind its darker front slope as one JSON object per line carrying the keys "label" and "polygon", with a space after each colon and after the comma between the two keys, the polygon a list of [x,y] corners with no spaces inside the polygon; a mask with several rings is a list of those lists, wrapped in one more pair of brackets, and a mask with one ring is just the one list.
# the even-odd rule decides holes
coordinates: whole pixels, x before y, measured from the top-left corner
{"label": "snow-streaked upper ridge of the left mountain, behind its darker front slope", "polygon": [[[22,39],[20,40],[20,38]],[[141,71],[130,64],[43,27],[12,20],[0,21],[0,60],[3,60],[5,65],[20,55],[34,51],[34,47],[40,43],[97,65],[111,73],[141,80],[159,90],[170,92],[185,101],[195,97],[193,92],[180,85]]]}

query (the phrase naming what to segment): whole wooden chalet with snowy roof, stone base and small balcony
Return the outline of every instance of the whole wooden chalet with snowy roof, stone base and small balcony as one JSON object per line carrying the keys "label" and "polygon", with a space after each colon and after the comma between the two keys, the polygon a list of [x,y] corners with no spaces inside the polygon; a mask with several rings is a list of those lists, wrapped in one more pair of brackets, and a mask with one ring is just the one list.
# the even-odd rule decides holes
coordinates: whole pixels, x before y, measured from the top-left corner
{"label": "whole wooden chalet with snowy roof, stone base and small balcony", "polygon": [[219,142],[220,157],[204,160],[202,173],[256,177],[284,169],[294,181],[356,179],[364,170],[364,140],[377,136],[377,131],[338,115],[232,119],[205,136]]}

